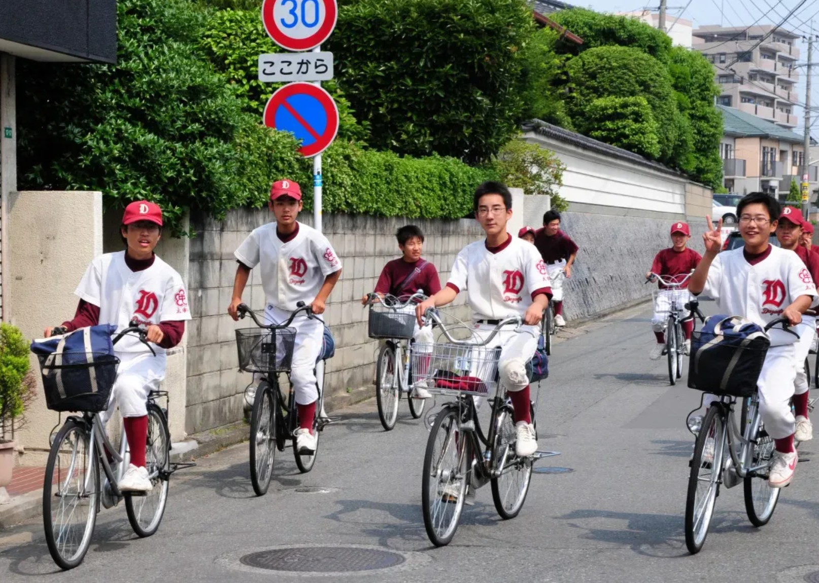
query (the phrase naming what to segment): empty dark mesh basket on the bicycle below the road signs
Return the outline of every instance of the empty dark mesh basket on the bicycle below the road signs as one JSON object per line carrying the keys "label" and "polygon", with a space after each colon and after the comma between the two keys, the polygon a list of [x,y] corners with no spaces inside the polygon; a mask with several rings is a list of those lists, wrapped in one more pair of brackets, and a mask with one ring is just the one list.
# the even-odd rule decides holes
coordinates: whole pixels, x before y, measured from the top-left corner
{"label": "empty dark mesh basket on the bicycle below the road signs", "polygon": [[290,372],[295,343],[295,328],[236,330],[239,370],[248,373]]}

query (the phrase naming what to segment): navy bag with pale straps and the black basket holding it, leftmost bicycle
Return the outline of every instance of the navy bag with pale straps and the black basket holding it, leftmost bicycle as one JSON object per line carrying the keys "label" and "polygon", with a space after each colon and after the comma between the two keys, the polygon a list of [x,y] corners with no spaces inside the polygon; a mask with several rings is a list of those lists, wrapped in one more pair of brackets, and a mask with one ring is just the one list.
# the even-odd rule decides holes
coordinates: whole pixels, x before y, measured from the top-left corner
{"label": "navy bag with pale straps and the black basket holding it, leftmost bicycle", "polygon": [[115,325],[80,328],[34,340],[40,361],[46,406],[54,411],[103,411],[116,380],[120,359],[114,355]]}

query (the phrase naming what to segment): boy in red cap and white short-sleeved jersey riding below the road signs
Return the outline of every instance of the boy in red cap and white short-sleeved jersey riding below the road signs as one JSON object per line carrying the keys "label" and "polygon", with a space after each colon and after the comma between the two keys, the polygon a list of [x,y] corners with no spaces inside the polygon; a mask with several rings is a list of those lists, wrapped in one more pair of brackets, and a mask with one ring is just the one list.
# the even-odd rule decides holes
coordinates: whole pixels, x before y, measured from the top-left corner
{"label": "boy in red cap and white short-sleeved jersey riding below the road signs", "polygon": [[[301,188],[296,182],[274,182],[268,207],[275,222],[251,232],[233,253],[238,267],[229,315],[238,321],[242,293],[251,269],[257,265],[265,290],[265,321],[270,324],[287,321],[299,302],[309,303],[316,315],[324,313],[324,304],[342,275],[342,262],[324,235],[296,221],[302,208]],[[292,321],[292,327],[296,329],[296,343],[290,382],[299,415],[296,450],[301,455],[310,455],[316,446],[313,424],[319,399],[314,368],[322,349],[324,325],[299,315]]]}

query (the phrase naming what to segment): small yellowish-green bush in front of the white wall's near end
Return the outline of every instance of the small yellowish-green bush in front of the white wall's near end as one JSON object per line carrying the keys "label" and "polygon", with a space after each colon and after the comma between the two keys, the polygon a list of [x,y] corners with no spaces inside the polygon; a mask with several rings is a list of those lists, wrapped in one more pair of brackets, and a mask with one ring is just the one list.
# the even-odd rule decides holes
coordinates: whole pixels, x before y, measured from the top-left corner
{"label": "small yellowish-green bush in front of the white wall's near end", "polygon": [[524,195],[550,195],[554,209],[568,209],[558,194],[566,166],[553,151],[515,138],[500,149],[494,167],[506,186],[522,188]]}

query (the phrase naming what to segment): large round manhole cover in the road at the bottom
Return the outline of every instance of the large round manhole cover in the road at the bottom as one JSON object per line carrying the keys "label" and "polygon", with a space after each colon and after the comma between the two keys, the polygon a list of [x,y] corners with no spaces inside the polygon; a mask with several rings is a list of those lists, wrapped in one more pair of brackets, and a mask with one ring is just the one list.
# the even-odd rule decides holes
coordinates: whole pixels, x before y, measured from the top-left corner
{"label": "large round manhole cover in the road at the bottom", "polygon": [[388,550],[346,546],[305,546],[296,549],[269,549],[246,554],[239,562],[268,571],[360,572],[396,567],[403,555]]}

